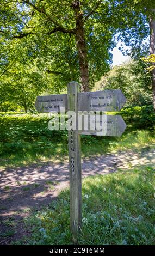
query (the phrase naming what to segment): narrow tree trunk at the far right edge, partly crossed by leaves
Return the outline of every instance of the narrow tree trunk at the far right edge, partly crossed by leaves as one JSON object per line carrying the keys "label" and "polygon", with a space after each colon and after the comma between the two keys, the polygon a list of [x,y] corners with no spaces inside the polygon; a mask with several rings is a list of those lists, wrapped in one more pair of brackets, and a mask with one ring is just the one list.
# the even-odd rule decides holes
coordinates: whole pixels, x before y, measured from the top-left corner
{"label": "narrow tree trunk at the far right edge, partly crossed by leaves", "polygon": [[[155,9],[153,9],[155,14]],[[150,54],[155,54],[155,18],[150,17]],[[155,63],[154,69],[152,70],[152,91],[153,91],[153,108],[155,112]]]}

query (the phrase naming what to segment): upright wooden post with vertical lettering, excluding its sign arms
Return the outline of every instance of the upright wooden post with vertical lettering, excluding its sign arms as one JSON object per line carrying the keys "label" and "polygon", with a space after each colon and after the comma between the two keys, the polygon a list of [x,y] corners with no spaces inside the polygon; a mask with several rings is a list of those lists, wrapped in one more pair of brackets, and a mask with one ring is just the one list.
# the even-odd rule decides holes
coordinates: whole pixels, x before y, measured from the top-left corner
{"label": "upright wooden post with vertical lettering, excluding its sign arms", "polygon": [[[78,93],[79,84],[71,82],[67,85],[68,111],[76,113],[78,127]],[[69,117],[70,118],[70,117]],[[70,227],[73,242],[78,244],[78,234],[82,225],[82,180],[81,180],[81,150],[78,129],[69,131],[69,161],[70,161]]]}

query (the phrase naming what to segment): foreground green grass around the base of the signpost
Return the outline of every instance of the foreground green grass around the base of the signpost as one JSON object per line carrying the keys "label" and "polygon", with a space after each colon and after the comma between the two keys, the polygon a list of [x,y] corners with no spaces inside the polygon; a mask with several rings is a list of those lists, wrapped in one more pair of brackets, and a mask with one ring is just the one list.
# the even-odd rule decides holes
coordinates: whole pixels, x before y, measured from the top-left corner
{"label": "foreground green grass around the base of the signpost", "polygon": [[[79,245],[154,245],[155,172],[151,167],[82,182],[82,233]],[[70,245],[69,190],[25,221],[31,235],[15,244]]]}

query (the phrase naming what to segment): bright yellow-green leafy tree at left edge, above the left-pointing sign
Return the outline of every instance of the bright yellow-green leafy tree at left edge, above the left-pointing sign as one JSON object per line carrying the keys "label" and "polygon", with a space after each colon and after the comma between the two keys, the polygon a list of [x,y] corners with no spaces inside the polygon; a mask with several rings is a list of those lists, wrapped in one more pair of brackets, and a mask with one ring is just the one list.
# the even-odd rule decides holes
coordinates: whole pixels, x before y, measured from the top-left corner
{"label": "bright yellow-green leafy tree at left edge, above the left-pointing sign", "polygon": [[39,70],[38,59],[30,57],[32,52],[24,40],[22,44],[14,41],[9,47],[5,46],[0,66],[1,109],[8,110],[13,105],[14,110],[14,106],[20,106],[27,113],[34,108],[38,94],[45,92],[47,87],[52,89],[52,78]]}

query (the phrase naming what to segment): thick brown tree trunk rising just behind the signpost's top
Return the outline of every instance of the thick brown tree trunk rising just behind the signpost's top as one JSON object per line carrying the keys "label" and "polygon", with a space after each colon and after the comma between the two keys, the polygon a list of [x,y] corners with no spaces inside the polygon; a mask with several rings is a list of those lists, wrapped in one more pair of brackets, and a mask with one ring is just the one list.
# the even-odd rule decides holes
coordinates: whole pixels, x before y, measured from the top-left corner
{"label": "thick brown tree trunk rising just behind the signpost's top", "polygon": [[80,1],[73,2],[73,10],[75,13],[76,20],[76,44],[78,51],[79,69],[80,69],[80,79],[82,83],[82,91],[89,91],[89,69],[87,60],[87,50],[85,42],[85,31],[83,22],[83,12],[80,9]]}

